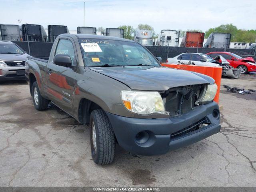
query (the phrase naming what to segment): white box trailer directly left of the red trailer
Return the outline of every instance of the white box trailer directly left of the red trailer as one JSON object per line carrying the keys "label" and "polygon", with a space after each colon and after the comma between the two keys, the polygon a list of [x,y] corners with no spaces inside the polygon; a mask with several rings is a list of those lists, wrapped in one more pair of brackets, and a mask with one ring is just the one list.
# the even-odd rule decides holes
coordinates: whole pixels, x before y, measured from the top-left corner
{"label": "white box trailer directly left of the red trailer", "polygon": [[161,30],[158,35],[156,44],[158,46],[178,46],[179,45],[180,32],[176,30]]}

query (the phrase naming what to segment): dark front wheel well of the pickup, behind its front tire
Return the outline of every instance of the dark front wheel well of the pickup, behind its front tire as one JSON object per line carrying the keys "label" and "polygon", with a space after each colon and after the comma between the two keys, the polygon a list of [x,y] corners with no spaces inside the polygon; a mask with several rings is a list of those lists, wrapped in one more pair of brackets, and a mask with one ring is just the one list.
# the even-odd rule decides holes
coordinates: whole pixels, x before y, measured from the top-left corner
{"label": "dark front wheel well of the pickup, behind its front tire", "polygon": [[90,123],[90,114],[95,109],[102,109],[98,104],[88,100],[81,99],[78,108],[78,119],[79,122],[85,125]]}

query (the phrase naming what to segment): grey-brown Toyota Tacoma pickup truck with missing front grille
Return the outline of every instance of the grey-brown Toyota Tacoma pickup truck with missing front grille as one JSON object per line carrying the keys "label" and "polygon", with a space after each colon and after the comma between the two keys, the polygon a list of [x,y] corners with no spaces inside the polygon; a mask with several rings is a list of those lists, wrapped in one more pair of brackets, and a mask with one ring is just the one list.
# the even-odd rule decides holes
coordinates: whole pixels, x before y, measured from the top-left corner
{"label": "grey-brown Toyota Tacoma pickup truck with missing front grille", "polygon": [[165,154],[220,131],[214,79],[162,67],[144,46],[110,36],[62,34],[49,60],[26,59],[34,106],[52,102],[90,125],[96,164],[116,143],[132,154]]}

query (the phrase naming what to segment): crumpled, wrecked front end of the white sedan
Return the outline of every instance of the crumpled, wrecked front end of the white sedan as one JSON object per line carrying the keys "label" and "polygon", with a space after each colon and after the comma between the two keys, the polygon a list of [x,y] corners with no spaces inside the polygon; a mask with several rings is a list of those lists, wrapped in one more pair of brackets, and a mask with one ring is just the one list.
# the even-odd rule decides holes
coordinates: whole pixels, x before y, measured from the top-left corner
{"label": "crumpled, wrecked front end of the white sedan", "polygon": [[239,78],[241,75],[240,68],[236,69],[230,66],[230,63],[221,55],[216,56],[212,63],[217,63],[222,66],[222,76],[227,76],[228,78]]}

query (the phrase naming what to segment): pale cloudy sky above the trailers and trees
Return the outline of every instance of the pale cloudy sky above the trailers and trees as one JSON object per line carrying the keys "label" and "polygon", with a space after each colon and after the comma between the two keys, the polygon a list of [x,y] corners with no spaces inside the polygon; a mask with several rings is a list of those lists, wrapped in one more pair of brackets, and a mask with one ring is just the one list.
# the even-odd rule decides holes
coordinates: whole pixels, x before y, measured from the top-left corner
{"label": "pale cloudy sky above the trailers and trees", "polygon": [[[1,24],[84,25],[84,1],[0,0]],[[117,28],[149,24],[162,29],[188,30],[230,24],[256,29],[256,0],[86,0],[85,26]]]}

